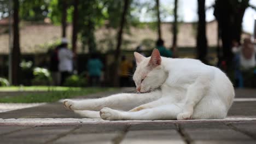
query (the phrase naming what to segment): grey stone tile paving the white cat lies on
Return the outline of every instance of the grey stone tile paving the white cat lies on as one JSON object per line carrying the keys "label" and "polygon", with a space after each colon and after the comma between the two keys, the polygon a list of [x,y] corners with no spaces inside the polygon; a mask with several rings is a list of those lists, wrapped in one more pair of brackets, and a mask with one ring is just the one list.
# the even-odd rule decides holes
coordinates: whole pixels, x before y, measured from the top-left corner
{"label": "grey stone tile paving the white cat lies on", "polygon": [[45,104],[0,113],[0,143],[256,143],[255,98],[237,89],[228,118],[200,121],[103,121]]}

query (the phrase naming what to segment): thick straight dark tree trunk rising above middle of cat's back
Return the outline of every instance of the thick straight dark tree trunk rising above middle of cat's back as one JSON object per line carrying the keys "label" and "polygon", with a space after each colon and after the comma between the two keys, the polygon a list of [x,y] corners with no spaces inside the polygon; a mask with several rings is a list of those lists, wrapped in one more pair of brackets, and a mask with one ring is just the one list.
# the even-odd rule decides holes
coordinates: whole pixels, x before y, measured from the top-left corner
{"label": "thick straight dark tree trunk rising above middle of cat's back", "polygon": [[205,0],[197,0],[199,22],[197,25],[197,58],[203,63],[207,63],[207,39],[206,39],[206,21],[205,21]]}

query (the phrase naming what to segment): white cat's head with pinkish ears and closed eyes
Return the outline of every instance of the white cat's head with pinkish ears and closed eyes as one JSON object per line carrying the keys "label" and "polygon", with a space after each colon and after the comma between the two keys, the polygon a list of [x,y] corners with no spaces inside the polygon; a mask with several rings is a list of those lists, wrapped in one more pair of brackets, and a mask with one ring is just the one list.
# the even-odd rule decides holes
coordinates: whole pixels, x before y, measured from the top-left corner
{"label": "white cat's head with pinkish ears and closed eyes", "polygon": [[137,63],[133,80],[138,92],[146,93],[159,88],[165,82],[167,73],[161,65],[162,59],[157,49],[154,49],[151,57],[144,57],[134,52]]}

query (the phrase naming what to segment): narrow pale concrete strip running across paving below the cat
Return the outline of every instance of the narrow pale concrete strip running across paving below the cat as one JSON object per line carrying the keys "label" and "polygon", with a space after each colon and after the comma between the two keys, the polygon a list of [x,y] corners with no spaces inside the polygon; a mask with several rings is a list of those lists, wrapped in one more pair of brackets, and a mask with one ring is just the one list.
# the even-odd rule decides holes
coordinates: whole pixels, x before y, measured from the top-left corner
{"label": "narrow pale concrete strip running across paving below the cat", "polygon": [[44,126],[44,125],[83,125],[83,124],[141,124],[141,123],[203,123],[203,122],[256,122],[256,118],[225,118],[225,119],[200,119],[185,121],[104,121],[100,118],[10,118],[0,119],[0,125],[23,125],[23,126]]}

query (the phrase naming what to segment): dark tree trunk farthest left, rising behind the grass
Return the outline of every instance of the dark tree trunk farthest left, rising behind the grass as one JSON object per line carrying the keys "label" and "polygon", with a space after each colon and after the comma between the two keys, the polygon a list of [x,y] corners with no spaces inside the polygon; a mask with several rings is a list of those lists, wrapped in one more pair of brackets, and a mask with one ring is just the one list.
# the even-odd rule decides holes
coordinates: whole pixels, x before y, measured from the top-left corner
{"label": "dark tree trunk farthest left, rising behind the grass", "polygon": [[13,11],[13,52],[11,53],[11,75],[13,85],[20,83],[20,36],[19,36],[19,0],[14,0]]}

